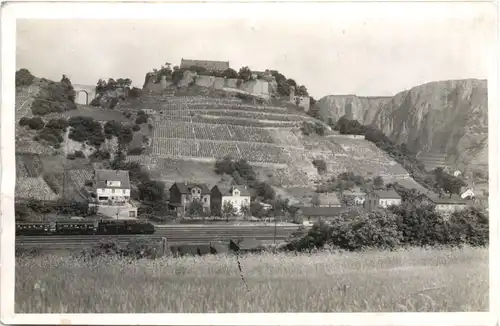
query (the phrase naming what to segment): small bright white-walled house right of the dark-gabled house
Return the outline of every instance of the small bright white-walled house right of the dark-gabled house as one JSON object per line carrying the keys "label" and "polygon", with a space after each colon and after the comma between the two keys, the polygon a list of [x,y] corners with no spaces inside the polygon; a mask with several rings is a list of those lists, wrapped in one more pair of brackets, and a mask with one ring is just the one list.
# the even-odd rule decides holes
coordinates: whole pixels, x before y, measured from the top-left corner
{"label": "small bright white-walled house right of the dark-gabled house", "polygon": [[231,203],[237,215],[243,215],[242,207],[250,208],[250,192],[247,186],[229,188],[215,185],[210,191],[210,209],[212,214],[220,216],[225,203]]}

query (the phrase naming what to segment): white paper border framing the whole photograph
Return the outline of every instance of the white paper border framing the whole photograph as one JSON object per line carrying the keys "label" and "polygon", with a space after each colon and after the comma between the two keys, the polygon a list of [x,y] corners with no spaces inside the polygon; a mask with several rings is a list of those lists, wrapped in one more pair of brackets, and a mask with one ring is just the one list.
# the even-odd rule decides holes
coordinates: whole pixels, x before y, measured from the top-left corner
{"label": "white paper border framing the whole photograph", "polygon": [[[355,5],[356,14],[377,15],[391,11],[393,6],[410,5],[413,15],[439,15],[449,8],[453,1],[405,1],[405,2],[361,2],[361,1],[318,1],[318,2],[240,2],[240,1],[205,1],[194,2],[157,2],[132,1],[31,1],[3,2],[1,7],[1,322],[5,324],[77,324],[77,325],[498,325],[499,283],[499,223],[498,218],[490,220],[489,278],[490,278],[490,312],[484,313],[240,313],[240,314],[15,314],[14,313],[14,276],[15,276],[15,70],[16,70],[16,20],[17,19],[179,19],[204,18],[212,19],[254,17],[273,17],[279,12],[290,18],[327,15],[329,10],[339,10],[342,6]],[[463,2],[465,3],[465,2]],[[482,3],[481,1],[471,1]],[[465,3],[467,4],[467,3]],[[499,6],[497,1],[487,2],[495,11],[498,24]],[[432,6],[432,11],[429,10]],[[465,6],[465,5],[464,5]],[[333,8],[335,7],[335,8]],[[425,7],[425,8],[423,8]],[[362,10],[359,10],[359,9]],[[457,9],[454,7],[454,10]],[[463,9],[463,10],[462,10]],[[345,10],[342,9],[341,10]],[[465,10],[465,11],[464,11]],[[467,9],[459,8],[454,14]],[[309,11],[308,15],[303,15]],[[209,14],[208,14],[209,13]],[[189,16],[187,16],[189,14]],[[447,13],[449,16],[449,12]],[[183,17],[184,16],[184,17]],[[253,18],[252,18],[253,17]],[[348,15],[346,15],[346,19]],[[499,26],[495,39],[492,39],[489,56],[490,73],[488,76],[488,125],[489,128],[489,194],[490,216],[498,216],[498,47]],[[460,55],[460,54],[456,54]]]}

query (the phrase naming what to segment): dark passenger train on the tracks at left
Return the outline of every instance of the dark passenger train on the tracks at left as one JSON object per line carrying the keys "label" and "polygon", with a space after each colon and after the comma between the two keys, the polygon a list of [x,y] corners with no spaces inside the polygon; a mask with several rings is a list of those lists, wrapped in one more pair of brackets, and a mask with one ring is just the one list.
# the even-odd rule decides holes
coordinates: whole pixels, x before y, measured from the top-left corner
{"label": "dark passenger train on the tracks at left", "polygon": [[155,226],[141,220],[52,221],[16,223],[16,235],[153,234]]}

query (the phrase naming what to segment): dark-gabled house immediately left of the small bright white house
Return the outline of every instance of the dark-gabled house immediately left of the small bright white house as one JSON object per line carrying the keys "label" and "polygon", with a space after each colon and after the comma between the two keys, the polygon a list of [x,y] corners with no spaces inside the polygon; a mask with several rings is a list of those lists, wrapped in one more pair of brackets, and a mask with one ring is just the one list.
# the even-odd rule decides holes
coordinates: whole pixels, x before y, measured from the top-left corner
{"label": "dark-gabled house immediately left of the small bright white house", "polygon": [[202,204],[205,214],[210,212],[210,190],[204,183],[176,182],[170,187],[169,193],[169,208],[177,211],[177,214],[185,215],[194,201]]}

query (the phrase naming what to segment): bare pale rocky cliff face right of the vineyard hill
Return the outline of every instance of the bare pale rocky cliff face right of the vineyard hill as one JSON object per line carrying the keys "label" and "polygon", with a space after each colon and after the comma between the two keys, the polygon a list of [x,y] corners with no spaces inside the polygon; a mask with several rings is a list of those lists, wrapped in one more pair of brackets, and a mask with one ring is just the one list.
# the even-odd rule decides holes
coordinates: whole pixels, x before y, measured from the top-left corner
{"label": "bare pale rocky cliff face right of the vineyard hill", "polygon": [[329,95],[318,106],[325,121],[346,115],[415,152],[444,153],[450,165],[487,169],[486,80],[431,82],[394,97]]}

